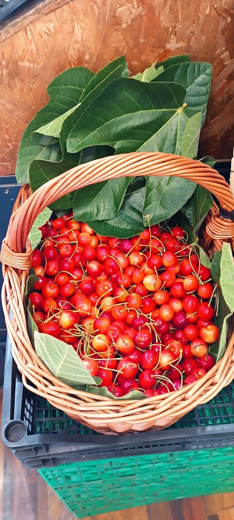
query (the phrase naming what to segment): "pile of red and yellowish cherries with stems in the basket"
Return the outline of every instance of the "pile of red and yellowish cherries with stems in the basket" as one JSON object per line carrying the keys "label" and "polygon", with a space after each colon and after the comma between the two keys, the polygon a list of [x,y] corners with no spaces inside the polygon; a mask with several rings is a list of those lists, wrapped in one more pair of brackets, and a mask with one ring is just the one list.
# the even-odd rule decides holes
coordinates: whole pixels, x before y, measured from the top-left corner
{"label": "pile of red and yellowish cherries with stems in the basket", "polygon": [[116,397],[180,389],[214,366],[217,287],[181,227],[97,235],[69,213],[41,228],[29,295],[40,332],[69,343]]}

